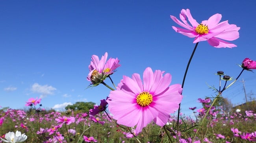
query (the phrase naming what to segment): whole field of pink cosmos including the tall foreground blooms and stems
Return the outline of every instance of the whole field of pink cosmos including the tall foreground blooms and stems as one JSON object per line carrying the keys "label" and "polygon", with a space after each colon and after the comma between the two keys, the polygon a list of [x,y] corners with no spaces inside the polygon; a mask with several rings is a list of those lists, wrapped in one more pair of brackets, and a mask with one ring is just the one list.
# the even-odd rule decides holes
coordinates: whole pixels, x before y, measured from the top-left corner
{"label": "whole field of pink cosmos including the tall foreground blooms and stems", "polygon": [[[36,97],[20,103],[27,107],[25,110],[1,107],[0,143],[256,142],[255,99],[232,107],[222,96],[243,72],[256,69],[256,61],[250,58],[241,62],[241,72],[234,79],[223,71],[215,73],[219,86],[208,85],[215,95],[198,98],[201,105],[189,107],[193,116],[181,112],[182,92],[186,89],[184,83],[198,43],[207,41],[215,48],[237,47],[227,41],[239,38],[240,27],[229,24],[228,20],[220,22],[221,18],[222,15],[217,13],[198,23],[189,9],[181,10],[181,21],[171,15],[171,19],[182,27],[173,26],[174,31],[194,38],[193,43],[196,43],[182,84],[173,84],[169,72],[153,71],[147,67],[142,75],[123,75],[116,86],[110,76],[115,75],[121,66],[119,59],[108,58],[108,52],[101,58],[92,55],[87,88],[104,85],[110,90],[106,99],[100,100],[100,105],[86,107],[88,112],[80,110],[81,107],[58,112],[44,109],[44,100]],[[112,85],[106,84],[106,80]]]}

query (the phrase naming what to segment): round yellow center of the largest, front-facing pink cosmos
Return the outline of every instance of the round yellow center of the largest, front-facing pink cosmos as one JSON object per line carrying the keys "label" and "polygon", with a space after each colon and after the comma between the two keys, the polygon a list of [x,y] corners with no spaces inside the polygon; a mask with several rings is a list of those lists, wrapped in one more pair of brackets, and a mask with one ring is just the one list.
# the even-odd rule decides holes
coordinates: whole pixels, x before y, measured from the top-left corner
{"label": "round yellow center of the largest, front-facing pink cosmos", "polygon": [[145,92],[145,91],[138,94],[136,99],[137,99],[137,103],[142,107],[149,105],[153,101],[152,95],[149,92]]}

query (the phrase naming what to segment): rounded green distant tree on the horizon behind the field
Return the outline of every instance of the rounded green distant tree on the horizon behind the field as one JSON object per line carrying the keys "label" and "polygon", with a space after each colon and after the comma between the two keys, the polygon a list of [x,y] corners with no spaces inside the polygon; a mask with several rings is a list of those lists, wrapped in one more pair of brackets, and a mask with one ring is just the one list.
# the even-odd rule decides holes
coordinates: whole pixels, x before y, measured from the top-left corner
{"label": "rounded green distant tree on the horizon behind the field", "polygon": [[76,102],[73,105],[67,105],[66,110],[74,110],[78,112],[89,112],[90,109],[93,109],[95,103],[93,102]]}

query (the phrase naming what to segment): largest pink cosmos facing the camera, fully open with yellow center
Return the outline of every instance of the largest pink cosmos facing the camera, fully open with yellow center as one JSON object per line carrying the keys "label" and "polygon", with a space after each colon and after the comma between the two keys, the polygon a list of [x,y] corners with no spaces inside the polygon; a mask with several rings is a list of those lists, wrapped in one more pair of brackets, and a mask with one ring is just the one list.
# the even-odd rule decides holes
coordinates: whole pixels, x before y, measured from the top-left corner
{"label": "largest pink cosmos facing the camera, fully open with yellow center", "polygon": [[[117,123],[134,127],[138,134],[152,120],[164,126],[179,108],[182,100],[180,84],[170,85],[171,74],[163,76],[164,71],[152,71],[147,67],[143,73],[143,83],[139,74],[132,78],[123,76],[117,90],[109,94],[108,108]],[[125,112],[124,112],[125,111]]]}

